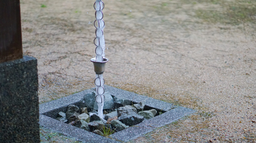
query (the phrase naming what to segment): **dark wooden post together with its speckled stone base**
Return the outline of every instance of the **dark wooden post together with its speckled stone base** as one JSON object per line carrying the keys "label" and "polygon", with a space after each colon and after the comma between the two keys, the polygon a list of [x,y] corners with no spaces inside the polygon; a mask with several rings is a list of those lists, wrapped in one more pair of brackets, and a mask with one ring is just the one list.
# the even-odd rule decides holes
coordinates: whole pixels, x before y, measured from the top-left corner
{"label": "dark wooden post together with its speckled stone base", "polygon": [[37,60],[22,54],[20,1],[0,0],[0,143],[40,142],[37,92]]}

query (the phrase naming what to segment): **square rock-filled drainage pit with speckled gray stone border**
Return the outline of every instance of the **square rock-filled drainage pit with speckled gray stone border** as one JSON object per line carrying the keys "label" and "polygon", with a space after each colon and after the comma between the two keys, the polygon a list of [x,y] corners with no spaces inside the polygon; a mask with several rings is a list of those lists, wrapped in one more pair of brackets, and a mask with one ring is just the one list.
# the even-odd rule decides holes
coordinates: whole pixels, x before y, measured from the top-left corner
{"label": "square rock-filled drainage pit with speckled gray stone border", "polygon": [[40,125],[82,142],[127,142],[195,112],[115,87],[105,90],[105,120],[97,116],[95,91],[88,89],[40,104]]}

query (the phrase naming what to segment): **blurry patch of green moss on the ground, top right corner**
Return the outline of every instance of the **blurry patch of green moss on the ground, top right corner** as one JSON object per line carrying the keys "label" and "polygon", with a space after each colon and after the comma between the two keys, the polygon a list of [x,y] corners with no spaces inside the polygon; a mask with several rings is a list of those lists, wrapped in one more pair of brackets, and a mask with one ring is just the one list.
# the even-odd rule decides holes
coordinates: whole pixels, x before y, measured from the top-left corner
{"label": "blurry patch of green moss on the ground, top right corner", "polygon": [[245,22],[256,21],[256,1],[212,1],[220,4],[218,9],[197,9],[196,16],[206,22],[238,25]]}

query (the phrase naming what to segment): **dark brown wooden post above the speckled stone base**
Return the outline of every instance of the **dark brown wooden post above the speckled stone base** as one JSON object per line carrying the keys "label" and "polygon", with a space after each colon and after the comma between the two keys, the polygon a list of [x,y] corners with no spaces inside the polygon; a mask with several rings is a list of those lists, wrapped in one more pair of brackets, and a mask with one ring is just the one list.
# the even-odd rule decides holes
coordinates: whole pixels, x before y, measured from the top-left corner
{"label": "dark brown wooden post above the speckled stone base", "polygon": [[22,56],[20,1],[0,0],[0,63]]}

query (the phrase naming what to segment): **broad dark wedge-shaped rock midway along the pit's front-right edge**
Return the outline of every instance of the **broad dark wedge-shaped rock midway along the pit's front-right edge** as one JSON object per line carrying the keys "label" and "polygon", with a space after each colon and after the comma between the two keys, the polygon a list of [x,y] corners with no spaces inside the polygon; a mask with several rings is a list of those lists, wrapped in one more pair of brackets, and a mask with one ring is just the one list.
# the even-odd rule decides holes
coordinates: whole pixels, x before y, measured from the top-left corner
{"label": "broad dark wedge-shaped rock midway along the pit's front-right edge", "polygon": [[138,114],[131,114],[131,115],[126,114],[118,117],[117,119],[127,126],[133,126],[142,122],[144,120],[144,117]]}

